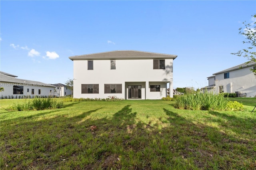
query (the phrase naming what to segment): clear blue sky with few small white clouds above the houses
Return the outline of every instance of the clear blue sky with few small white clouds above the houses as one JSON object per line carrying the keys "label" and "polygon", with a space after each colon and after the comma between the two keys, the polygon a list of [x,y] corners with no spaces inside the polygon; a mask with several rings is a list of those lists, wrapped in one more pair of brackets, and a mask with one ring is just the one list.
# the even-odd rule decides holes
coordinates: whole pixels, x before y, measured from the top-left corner
{"label": "clear blue sky with few small white clouds above the houses", "polygon": [[175,54],[174,88],[248,61],[242,22],[256,1],[0,1],[0,70],[65,83],[73,55],[113,50]]}

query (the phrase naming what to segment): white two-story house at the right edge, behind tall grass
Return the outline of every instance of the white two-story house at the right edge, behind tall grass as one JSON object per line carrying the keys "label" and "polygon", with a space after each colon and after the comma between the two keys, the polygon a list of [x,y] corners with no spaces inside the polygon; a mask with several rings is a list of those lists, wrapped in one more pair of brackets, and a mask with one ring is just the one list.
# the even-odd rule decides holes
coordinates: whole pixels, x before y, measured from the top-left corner
{"label": "white two-story house at the right edge, behind tall grass", "polygon": [[209,85],[201,88],[203,92],[236,93],[237,97],[256,97],[256,76],[250,69],[255,62],[243,63],[207,77]]}

